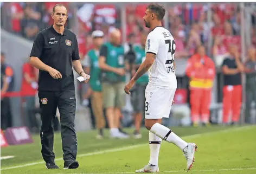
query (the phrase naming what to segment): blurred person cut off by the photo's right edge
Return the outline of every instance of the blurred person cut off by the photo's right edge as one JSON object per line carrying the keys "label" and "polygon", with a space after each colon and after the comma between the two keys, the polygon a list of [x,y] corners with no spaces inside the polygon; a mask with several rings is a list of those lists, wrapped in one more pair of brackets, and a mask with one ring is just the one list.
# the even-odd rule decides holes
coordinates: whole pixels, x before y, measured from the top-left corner
{"label": "blurred person cut off by the photo's right edge", "polygon": [[256,104],[256,50],[251,47],[247,50],[248,60],[245,63],[246,72],[246,104],[245,104],[245,123],[251,123],[251,104]]}

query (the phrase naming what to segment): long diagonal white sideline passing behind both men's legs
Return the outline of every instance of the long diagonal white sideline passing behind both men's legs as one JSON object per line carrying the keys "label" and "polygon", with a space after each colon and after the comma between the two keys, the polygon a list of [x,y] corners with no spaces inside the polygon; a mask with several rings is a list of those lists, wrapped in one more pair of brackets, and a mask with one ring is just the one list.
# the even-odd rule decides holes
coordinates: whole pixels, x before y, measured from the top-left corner
{"label": "long diagonal white sideline passing behind both men's legs", "polygon": [[[222,133],[222,132],[232,132],[232,131],[235,131],[235,130],[244,130],[244,129],[252,128],[252,127],[255,127],[255,126],[242,126],[242,127],[228,128],[227,130],[199,133],[199,134],[194,134],[194,135],[190,135],[190,136],[184,136],[182,138],[195,138],[195,137],[201,137],[201,136],[209,135],[209,134],[217,134],[217,133]],[[145,145],[149,145],[149,144],[145,143],[145,144],[138,144],[138,145],[131,145],[131,146],[114,148],[114,149],[108,149],[108,150],[103,150],[103,151],[98,151],[98,152],[78,154],[77,157],[86,157],[86,156],[93,156],[95,154],[103,154],[103,153],[108,153],[108,152],[124,151],[124,150],[129,150],[129,149],[133,149],[133,148],[141,147],[141,146],[145,146]],[[63,158],[55,159],[55,161],[58,161],[58,160],[63,160]],[[21,168],[21,167],[26,167],[26,166],[31,166],[31,165],[37,165],[37,164],[44,164],[44,163],[45,162],[43,161],[43,162],[28,163],[28,164],[24,164],[24,165],[17,165],[17,166],[12,166],[12,167],[7,167],[7,168],[4,168],[4,169],[1,169],[1,171],[2,170],[10,170],[10,169]]]}

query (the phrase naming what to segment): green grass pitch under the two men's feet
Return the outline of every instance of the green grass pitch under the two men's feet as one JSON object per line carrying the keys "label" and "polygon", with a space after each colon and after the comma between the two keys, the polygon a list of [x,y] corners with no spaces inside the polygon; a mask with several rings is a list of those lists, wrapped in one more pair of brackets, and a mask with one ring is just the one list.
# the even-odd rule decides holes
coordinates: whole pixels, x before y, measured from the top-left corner
{"label": "green grass pitch under the two men's feet", "polygon": [[[256,126],[171,127],[171,130],[198,146],[194,167],[188,173],[256,173]],[[1,148],[1,157],[15,156],[1,160],[1,173],[135,173],[149,162],[148,131],[143,130],[142,134],[142,139],[108,139],[106,135],[97,140],[95,131],[78,133],[80,166],[75,170],[63,170],[59,133],[55,133],[54,152],[60,169],[45,169],[40,137],[36,135],[33,144]],[[161,173],[187,173],[182,151],[165,141],[161,145],[158,165]]]}

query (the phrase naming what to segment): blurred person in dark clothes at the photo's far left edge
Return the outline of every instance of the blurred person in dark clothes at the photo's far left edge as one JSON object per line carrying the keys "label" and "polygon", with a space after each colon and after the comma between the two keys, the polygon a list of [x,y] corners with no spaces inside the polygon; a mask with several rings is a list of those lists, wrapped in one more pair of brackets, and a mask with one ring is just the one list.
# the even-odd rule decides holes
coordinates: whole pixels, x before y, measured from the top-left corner
{"label": "blurred person in dark clothes at the photo's far left edge", "polygon": [[14,72],[5,63],[5,55],[1,52],[1,129],[11,127],[11,111],[9,96],[5,96],[14,88]]}

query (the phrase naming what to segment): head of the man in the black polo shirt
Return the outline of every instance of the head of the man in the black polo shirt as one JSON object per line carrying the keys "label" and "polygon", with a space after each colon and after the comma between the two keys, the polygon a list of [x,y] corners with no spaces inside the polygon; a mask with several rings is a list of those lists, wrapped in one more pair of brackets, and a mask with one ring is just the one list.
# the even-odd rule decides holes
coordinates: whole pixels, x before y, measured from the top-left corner
{"label": "head of the man in the black polo shirt", "polygon": [[55,8],[54,14],[52,14],[52,18],[57,26],[65,25],[68,18],[67,9],[63,6],[57,6]]}

